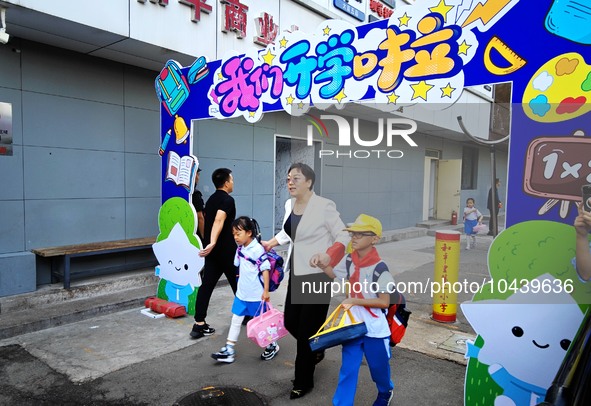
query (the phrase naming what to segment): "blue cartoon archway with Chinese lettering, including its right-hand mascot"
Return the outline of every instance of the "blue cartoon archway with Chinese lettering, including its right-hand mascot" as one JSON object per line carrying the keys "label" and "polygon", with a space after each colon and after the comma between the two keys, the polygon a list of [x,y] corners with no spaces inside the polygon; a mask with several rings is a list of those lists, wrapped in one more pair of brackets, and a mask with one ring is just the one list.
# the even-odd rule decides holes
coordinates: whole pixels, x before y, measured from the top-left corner
{"label": "blue cartoon archway with Chinese lettering, including its right-hand mascot", "polygon": [[[570,261],[573,202],[591,183],[591,2],[421,0],[388,20],[329,20],[315,32],[279,33],[263,50],[210,62],[200,56],[188,67],[169,61],[155,82],[163,202],[188,200],[198,165],[191,120],[256,122],[264,113],[304,116],[310,106],[364,100],[385,111],[415,103],[444,108],[466,86],[501,82],[513,84],[507,229],[489,252],[493,283],[465,307],[479,334],[468,353],[465,404],[536,404],[564,356],[560,341],[572,339],[591,303],[590,283]],[[556,255],[541,261],[548,252]],[[546,285],[550,292],[533,292]],[[490,329],[496,318],[504,325],[495,311],[502,306],[519,309],[511,310],[511,323],[523,323],[523,334],[559,342],[540,352],[531,337],[514,342],[515,334]],[[564,337],[555,337],[547,317],[534,317],[540,309],[561,320]],[[503,354],[517,354],[518,362]]]}

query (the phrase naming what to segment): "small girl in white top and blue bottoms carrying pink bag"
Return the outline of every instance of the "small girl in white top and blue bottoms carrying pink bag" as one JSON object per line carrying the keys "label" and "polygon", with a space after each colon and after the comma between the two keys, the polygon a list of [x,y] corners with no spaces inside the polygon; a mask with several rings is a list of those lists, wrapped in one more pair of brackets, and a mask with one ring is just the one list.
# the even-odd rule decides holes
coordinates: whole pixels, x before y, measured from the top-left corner
{"label": "small girl in white top and blue bottoms carrying pink bag", "polygon": [[[213,359],[228,363],[234,362],[236,354],[234,345],[238,341],[244,316],[257,316],[261,301],[269,301],[269,269],[271,268],[267,259],[258,266],[252,262],[257,262],[265,254],[265,249],[258,240],[259,225],[256,220],[245,216],[238,217],[232,223],[232,234],[238,245],[234,265],[239,267],[238,287],[232,305],[233,316],[226,345],[220,351],[211,354]],[[262,273],[262,284],[259,273]],[[261,358],[270,360],[277,352],[279,352],[279,345],[274,342],[267,346]]]}

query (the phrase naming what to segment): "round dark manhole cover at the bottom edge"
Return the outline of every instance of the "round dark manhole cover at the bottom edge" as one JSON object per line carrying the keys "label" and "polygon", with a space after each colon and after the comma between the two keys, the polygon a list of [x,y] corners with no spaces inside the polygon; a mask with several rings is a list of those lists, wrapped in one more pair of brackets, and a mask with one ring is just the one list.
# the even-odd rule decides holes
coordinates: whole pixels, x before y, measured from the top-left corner
{"label": "round dark manhole cover at the bottom edge", "polygon": [[214,387],[203,388],[178,400],[175,406],[266,406],[256,392],[248,388]]}

